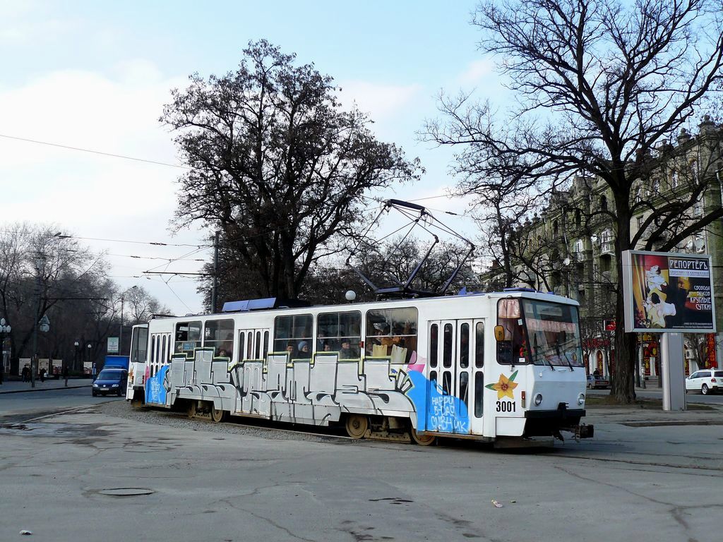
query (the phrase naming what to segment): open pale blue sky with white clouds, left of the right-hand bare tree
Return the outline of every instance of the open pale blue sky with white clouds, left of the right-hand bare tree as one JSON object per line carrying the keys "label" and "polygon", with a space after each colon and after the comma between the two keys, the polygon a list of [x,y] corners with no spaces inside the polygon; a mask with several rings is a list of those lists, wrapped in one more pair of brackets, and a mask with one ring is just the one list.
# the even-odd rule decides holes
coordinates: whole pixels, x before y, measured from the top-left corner
{"label": "open pale blue sky with white clouds, left of the right-hand bare tree", "polygon": [[121,288],[140,285],[174,314],[202,311],[193,278],[145,274],[196,272],[213,258],[202,224],[171,229],[184,170],[158,117],[189,74],[232,71],[249,40],[265,38],[331,75],[342,103],[367,111],[379,139],[422,161],[419,182],[383,197],[432,197],[419,203],[474,238],[472,220],[442,213],[469,206],[444,195],[455,184],[453,152],[420,142],[416,132],[437,116],[440,90],[505,98],[495,61],[477,48],[475,6],[0,0],[0,228],[23,221],[57,227],[106,254]]}

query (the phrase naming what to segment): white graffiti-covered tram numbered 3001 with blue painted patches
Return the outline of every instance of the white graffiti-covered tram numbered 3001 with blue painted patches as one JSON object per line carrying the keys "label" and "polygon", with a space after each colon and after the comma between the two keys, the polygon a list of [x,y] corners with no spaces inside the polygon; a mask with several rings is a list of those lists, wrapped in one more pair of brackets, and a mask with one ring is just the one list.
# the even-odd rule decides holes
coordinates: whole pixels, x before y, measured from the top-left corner
{"label": "white graffiti-covered tram numbered 3001 with blue painted patches", "polygon": [[592,436],[578,304],[526,290],[342,306],[227,303],[134,327],[127,399],[355,438]]}

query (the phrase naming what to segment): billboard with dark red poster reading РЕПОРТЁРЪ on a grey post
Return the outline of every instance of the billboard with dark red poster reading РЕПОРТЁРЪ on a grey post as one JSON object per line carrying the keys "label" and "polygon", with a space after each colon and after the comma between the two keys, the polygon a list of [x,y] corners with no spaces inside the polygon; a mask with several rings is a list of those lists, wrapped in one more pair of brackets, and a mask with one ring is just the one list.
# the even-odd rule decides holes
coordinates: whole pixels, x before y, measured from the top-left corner
{"label": "billboard with dark red poster reading \u0420\u0415\u041f\u041e\u0420\u0422\u0401\u0420\u042a on a grey post", "polygon": [[623,252],[626,332],[714,333],[711,257]]}

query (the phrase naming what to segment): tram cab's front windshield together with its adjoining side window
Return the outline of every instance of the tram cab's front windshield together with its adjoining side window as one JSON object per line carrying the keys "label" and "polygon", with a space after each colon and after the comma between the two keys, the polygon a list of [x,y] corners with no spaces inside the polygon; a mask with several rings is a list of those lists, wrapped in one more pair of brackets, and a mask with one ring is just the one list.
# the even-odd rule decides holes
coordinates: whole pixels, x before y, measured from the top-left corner
{"label": "tram cab's front windshield together with its adjoining side window", "polygon": [[583,365],[575,306],[532,299],[500,299],[497,323],[505,335],[504,340],[497,342],[500,364]]}

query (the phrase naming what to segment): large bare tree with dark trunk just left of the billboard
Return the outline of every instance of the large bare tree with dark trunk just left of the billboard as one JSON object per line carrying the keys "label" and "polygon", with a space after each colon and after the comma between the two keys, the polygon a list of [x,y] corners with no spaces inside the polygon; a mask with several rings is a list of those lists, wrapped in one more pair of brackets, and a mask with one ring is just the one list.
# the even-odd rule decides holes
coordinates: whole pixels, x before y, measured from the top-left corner
{"label": "large bare tree with dark trunk just left of the billboard", "polygon": [[[469,145],[479,176],[499,175],[502,164],[513,167],[503,173],[518,173],[543,187],[576,173],[602,179],[612,192],[604,212],[614,225],[622,283],[620,254],[635,241],[630,220],[636,188],[666,159],[661,145],[672,143],[696,108],[719,90],[722,17],[720,0],[483,2],[473,21],[483,33],[481,48],[502,59],[519,106],[501,121],[488,104],[470,104],[468,96],[445,98],[441,106],[449,122],[430,123],[427,137]],[[701,176],[699,183],[699,193],[716,197],[715,176]],[[651,205],[648,235],[670,231],[670,219],[693,205],[690,197]],[[721,217],[718,204],[674,228],[666,243],[680,242]],[[623,322],[620,290],[616,318]],[[622,325],[615,350],[614,393],[630,402],[636,337]]]}

